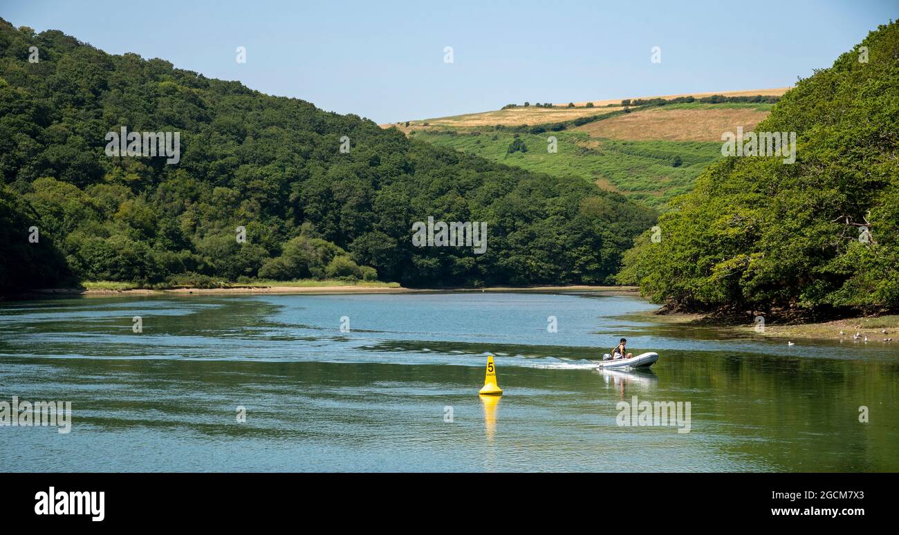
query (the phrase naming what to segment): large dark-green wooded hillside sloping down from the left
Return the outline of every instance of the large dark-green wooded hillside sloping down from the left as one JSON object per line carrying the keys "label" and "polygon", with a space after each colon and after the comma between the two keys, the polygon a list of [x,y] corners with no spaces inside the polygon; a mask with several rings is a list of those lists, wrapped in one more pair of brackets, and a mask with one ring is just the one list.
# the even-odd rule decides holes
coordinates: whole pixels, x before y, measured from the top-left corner
{"label": "large dark-green wooded hillside sloping down from the left", "polygon": [[[121,128],[178,132],[179,161],[107,156]],[[2,19],[0,180],[4,291],[65,284],[68,273],[139,284],[596,283],[655,218],[577,177],[461,155]],[[414,246],[413,223],[429,217],[485,222],[485,254]]]}

